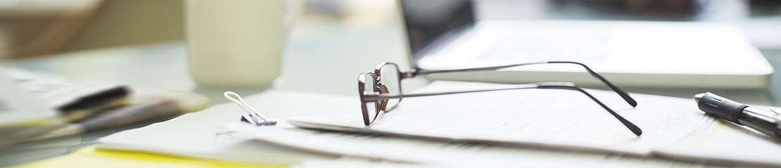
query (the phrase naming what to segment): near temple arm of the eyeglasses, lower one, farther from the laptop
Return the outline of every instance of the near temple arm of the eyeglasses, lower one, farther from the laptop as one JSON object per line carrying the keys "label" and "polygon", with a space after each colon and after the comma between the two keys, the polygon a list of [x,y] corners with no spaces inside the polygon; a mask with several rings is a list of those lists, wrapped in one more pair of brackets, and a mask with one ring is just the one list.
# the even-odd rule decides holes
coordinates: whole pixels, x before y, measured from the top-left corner
{"label": "near temple arm of the eyeglasses, lower one, farther from the laptop", "polygon": [[615,111],[610,109],[608,106],[604,105],[604,103],[602,103],[601,101],[597,100],[596,97],[591,96],[591,94],[587,93],[585,90],[580,89],[579,87],[575,86],[575,84],[570,82],[540,82],[536,84],[527,84],[527,85],[515,86],[515,87],[456,91],[456,92],[446,92],[446,93],[417,93],[417,94],[383,93],[379,95],[366,95],[366,97],[364,97],[364,101],[388,100],[388,99],[419,97],[419,96],[439,96],[439,95],[458,94],[458,93],[478,93],[478,92],[509,90],[509,89],[568,89],[568,90],[578,91],[591,98],[591,100],[594,100],[594,102],[599,104],[599,106],[604,108],[604,110],[608,110],[608,113],[613,115],[613,117],[615,117],[616,119],[619,119],[619,121],[621,121],[621,124],[624,124],[624,126],[626,126],[626,128],[629,128],[629,131],[632,131],[632,133],[634,133],[635,135],[640,136],[641,134],[643,134],[643,131],[640,130],[640,128],[638,128],[637,125],[632,124],[632,122],[629,122],[626,119],[624,119],[624,117],[621,117],[619,114],[616,114]]}

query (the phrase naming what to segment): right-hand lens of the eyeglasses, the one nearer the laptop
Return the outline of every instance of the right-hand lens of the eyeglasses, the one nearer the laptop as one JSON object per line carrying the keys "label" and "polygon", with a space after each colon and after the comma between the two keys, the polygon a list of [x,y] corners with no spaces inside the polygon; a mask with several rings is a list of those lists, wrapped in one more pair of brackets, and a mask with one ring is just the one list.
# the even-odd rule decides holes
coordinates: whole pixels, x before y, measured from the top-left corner
{"label": "right-hand lens of the eyeglasses, the one nearer the laptop", "polygon": [[[380,68],[380,83],[387,88],[388,93],[401,93],[401,78],[398,71],[398,66],[394,64],[386,64]],[[392,110],[398,105],[401,99],[387,100],[387,105],[383,109],[384,111]]]}

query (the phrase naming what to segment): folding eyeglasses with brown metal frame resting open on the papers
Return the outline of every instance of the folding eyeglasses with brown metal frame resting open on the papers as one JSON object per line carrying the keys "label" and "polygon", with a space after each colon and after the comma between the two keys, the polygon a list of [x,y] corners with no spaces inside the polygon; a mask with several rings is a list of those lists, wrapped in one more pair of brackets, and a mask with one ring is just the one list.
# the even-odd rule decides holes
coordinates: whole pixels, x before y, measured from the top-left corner
{"label": "folding eyeglasses with brown metal frame resting open on the papers", "polygon": [[387,113],[393,110],[395,107],[398,106],[398,103],[401,102],[401,99],[405,97],[439,96],[439,95],[448,95],[448,94],[457,94],[457,93],[476,93],[476,92],[510,90],[510,89],[567,89],[567,90],[574,90],[583,93],[586,96],[588,96],[591,100],[594,100],[594,102],[599,104],[602,108],[604,108],[604,110],[607,110],[608,113],[613,115],[613,117],[621,121],[621,123],[624,124],[626,128],[629,128],[629,131],[632,131],[635,135],[640,136],[643,133],[643,131],[641,131],[640,128],[638,128],[635,124],[632,124],[632,122],[629,122],[626,119],[624,119],[624,117],[621,117],[619,114],[616,114],[615,111],[605,106],[604,103],[597,100],[597,98],[595,98],[594,96],[591,96],[591,94],[587,93],[585,90],[580,89],[580,87],[576,86],[572,82],[538,82],[533,84],[513,85],[509,87],[504,86],[502,88],[477,89],[477,90],[469,90],[469,91],[455,91],[455,92],[443,92],[443,93],[418,93],[418,94],[401,93],[401,80],[414,78],[417,75],[430,75],[430,74],[448,73],[448,72],[493,71],[502,68],[511,68],[511,67],[517,67],[522,65],[542,65],[542,64],[572,64],[572,65],[583,66],[583,68],[585,68],[586,71],[589,72],[591,76],[594,76],[594,78],[599,79],[602,83],[604,83],[605,86],[608,86],[608,88],[612,89],[615,93],[618,93],[619,96],[621,96],[623,100],[626,101],[626,103],[629,103],[629,105],[631,105],[632,107],[637,107],[637,101],[632,99],[632,97],[630,97],[629,94],[619,89],[618,87],[613,86],[613,84],[608,82],[607,79],[604,79],[601,75],[598,75],[597,72],[592,71],[591,68],[588,68],[588,66],[578,62],[544,61],[544,62],[531,62],[531,63],[515,64],[515,65],[493,66],[493,67],[485,67],[485,68],[464,68],[464,69],[452,69],[452,70],[424,70],[424,69],[417,68],[417,69],[412,69],[412,71],[410,72],[401,72],[398,69],[398,65],[390,62],[383,62],[374,68],[374,72],[364,72],[358,75],[358,93],[360,94],[360,99],[361,99],[363,122],[364,124],[366,124],[366,126],[373,124],[373,122],[376,121],[377,116],[380,115],[380,112]]}

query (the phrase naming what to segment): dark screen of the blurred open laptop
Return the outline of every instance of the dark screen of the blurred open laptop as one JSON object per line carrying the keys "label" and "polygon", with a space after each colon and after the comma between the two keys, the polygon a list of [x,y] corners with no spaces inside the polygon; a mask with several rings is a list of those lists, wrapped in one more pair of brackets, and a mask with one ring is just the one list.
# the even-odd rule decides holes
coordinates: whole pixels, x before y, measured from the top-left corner
{"label": "dark screen of the blurred open laptop", "polygon": [[469,0],[400,0],[412,60],[417,60],[430,44],[451,30],[475,21]]}

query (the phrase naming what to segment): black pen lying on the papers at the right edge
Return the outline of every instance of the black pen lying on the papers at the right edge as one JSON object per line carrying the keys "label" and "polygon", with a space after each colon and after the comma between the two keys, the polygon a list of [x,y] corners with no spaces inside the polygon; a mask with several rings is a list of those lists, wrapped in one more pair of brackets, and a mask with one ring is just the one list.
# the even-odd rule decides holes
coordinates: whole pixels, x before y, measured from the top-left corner
{"label": "black pen lying on the papers at the right edge", "polygon": [[767,135],[781,138],[781,116],[775,111],[759,110],[713,93],[694,95],[697,107],[715,117],[746,125]]}

